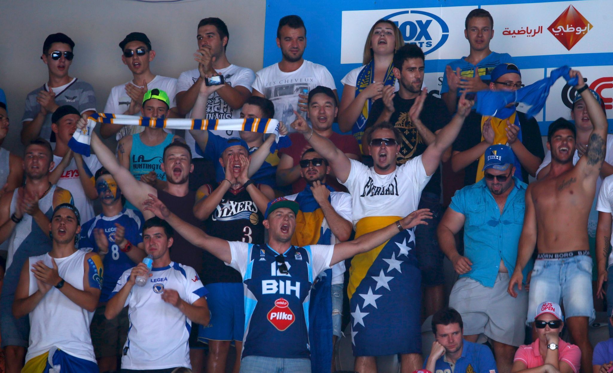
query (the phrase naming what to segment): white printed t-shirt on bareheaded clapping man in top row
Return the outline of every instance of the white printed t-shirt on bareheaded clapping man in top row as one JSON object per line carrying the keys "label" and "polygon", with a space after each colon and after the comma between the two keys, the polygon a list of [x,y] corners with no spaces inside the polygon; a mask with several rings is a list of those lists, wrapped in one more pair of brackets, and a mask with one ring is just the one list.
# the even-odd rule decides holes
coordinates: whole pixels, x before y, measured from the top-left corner
{"label": "white printed t-shirt on bareheaded clapping man in top row", "polygon": [[[247,67],[240,67],[233,64],[225,67],[224,69],[216,70],[219,74],[224,75],[224,82],[228,83],[230,87],[245,87],[251,92],[251,85],[253,80],[256,79],[256,74],[253,70]],[[188,70],[181,72],[177,83],[177,92],[183,92],[189,90],[189,88],[196,83],[196,80],[200,77],[198,69]],[[189,110],[186,118],[191,118],[191,110]],[[240,109],[232,110],[232,108],[224,101],[217,92],[214,92],[208,96],[207,100],[207,118],[206,119],[231,119],[240,118]],[[199,118],[197,118],[199,119]],[[215,131],[215,134],[223,137],[238,136],[234,134],[234,131]],[[194,158],[202,158],[196,153],[196,140],[189,134],[189,131],[185,131],[185,142],[192,150]]]}

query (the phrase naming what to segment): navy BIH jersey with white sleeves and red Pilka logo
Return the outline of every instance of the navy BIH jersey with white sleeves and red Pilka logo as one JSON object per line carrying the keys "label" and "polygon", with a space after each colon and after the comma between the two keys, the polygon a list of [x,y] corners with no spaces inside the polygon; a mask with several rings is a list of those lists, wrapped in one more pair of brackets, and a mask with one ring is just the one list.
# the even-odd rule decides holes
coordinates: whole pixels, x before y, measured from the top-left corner
{"label": "navy BIH jersey with white sleeves and red Pilka logo", "polygon": [[[309,358],[308,308],[311,285],[330,268],[332,245],[291,246],[283,253],[288,273],[268,245],[228,242],[229,266],[243,275],[245,356]],[[283,348],[279,348],[282,346]]]}

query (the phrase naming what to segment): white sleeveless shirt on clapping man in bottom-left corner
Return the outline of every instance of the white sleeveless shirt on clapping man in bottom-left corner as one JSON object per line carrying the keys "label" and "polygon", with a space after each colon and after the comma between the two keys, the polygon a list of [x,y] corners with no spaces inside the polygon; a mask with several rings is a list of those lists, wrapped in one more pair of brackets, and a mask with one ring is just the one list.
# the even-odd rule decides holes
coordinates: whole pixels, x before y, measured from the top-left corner
{"label": "white sleeveless shirt on clapping man in bottom-left corner", "polygon": [[[77,250],[66,258],[54,258],[58,266],[59,277],[78,290],[84,288],[83,261],[85,261],[85,255],[87,253],[83,250]],[[30,269],[39,260],[42,260],[46,266],[53,267],[51,256],[47,253],[31,256],[29,258]],[[92,261],[92,264],[94,262],[91,259],[89,261]],[[98,261],[97,266],[99,265]],[[38,286],[32,271],[29,271],[29,275],[28,295],[32,295],[36,293]],[[102,285],[100,277],[96,278],[94,275],[93,280],[96,282],[99,280],[99,284]],[[26,362],[56,347],[69,355],[96,363],[94,347],[91,345],[91,336],[89,336],[89,323],[93,315],[93,312],[77,306],[59,289],[51,288],[29,314],[30,342]]]}

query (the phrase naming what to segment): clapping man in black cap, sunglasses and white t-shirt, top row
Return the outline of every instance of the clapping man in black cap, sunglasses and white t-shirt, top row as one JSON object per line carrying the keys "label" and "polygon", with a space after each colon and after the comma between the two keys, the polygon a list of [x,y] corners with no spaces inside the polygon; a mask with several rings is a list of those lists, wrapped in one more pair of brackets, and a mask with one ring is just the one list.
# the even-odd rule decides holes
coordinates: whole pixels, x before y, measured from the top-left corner
{"label": "clapping man in black cap, sunglasses and white t-shirt, top row", "polygon": [[[177,106],[175,93],[177,92],[177,79],[155,75],[151,72],[150,63],[156,56],[151,48],[151,41],[143,33],[129,33],[121,40],[121,61],[132,72],[132,80],[128,83],[111,88],[109,99],[104,107],[105,113],[139,115],[142,110],[142,102],[148,90],[158,89],[166,92],[169,98],[169,109]],[[148,117],[148,115],[143,115]],[[172,117],[169,115],[169,117]],[[121,140],[128,134],[140,133],[142,126],[122,126],[113,123],[102,123],[100,135],[102,138],[116,134],[116,139]]]}

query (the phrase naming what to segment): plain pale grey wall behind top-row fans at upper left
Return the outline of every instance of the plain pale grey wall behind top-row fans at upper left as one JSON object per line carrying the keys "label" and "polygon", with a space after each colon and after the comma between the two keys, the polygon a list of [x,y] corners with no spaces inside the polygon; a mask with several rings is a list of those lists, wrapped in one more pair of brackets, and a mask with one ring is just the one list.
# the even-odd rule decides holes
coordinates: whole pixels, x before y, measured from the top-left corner
{"label": "plain pale grey wall behind top-row fans at upper left", "polygon": [[2,147],[16,152],[22,151],[19,133],[26,94],[47,82],[40,55],[48,34],[61,32],[74,40],[69,74],[93,85],[99,111],[110,88],[132,79],[118,46],[132,31],[151,40],[157,53],[151,71],[178,77],[196,67],[192,54],[197,50],[200,19],[219,17],[230,33],[230,63],[254,71],[262,68],[265,0],[3,0],[0,4],[0,88],[6,93],[10,117],[9,136]]}

